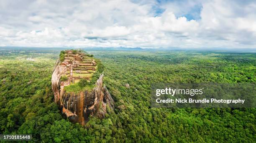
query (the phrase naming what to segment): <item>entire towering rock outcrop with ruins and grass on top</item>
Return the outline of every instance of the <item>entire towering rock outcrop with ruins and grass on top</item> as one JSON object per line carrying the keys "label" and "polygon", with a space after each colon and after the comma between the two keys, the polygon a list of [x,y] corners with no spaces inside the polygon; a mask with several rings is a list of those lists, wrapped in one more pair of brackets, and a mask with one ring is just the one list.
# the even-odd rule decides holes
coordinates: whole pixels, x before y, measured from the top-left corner
{"label": "entire towering rock outcrop with ruins and grass on top", "polygon": [[84,125],[90,115],[103,118],[107,109],[113,110],[113,99],[102,83],[101,67],[90,54],[61,51],[51,82],[54,100],[70,121]]}

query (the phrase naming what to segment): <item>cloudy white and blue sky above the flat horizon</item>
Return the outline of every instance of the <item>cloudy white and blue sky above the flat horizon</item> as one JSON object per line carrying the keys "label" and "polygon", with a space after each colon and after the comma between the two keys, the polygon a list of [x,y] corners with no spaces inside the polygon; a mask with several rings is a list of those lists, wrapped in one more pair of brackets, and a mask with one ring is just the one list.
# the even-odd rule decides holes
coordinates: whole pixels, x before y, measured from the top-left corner
{"label": "cloudy white and blue sky above the flat horizon", "polygon": [[0,46],[256,48],[256,1],[0,0]]}

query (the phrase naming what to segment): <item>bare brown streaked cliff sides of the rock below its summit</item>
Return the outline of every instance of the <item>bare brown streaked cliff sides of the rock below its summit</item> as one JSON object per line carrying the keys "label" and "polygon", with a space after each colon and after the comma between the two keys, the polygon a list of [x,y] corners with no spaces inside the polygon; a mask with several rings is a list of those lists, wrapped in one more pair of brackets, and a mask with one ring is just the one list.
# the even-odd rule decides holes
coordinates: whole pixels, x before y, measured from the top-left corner
{"label": "bare brown streaked cliff sides of the rock below its summit", "polygon": [[74,93],[64,90],[64,86],[68,86],[70,81],[60,81],[61,75],[66,71],[67,68],[61,66],[61,62],[58,59],[53,69],[51,83],[54,101],[70,121],[84,125],[90,115],[104,118],[107,109],[113,110],[114,101],[108,89],[102,83],[103,74],[101,74],[91,91],[85,90]]}

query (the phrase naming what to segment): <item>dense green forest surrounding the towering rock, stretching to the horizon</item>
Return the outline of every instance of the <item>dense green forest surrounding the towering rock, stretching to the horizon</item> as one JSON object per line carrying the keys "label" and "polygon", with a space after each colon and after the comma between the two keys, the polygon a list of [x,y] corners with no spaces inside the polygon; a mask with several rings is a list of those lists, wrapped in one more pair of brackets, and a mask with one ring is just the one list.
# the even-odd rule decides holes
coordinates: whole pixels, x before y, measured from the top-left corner
{"label": "dense green forest surrounding the towering rock, stretching to the horizon", "polygon": [[256,53],[87,50],[105,67],[115,111],[83,127],[54,103],[51,74],[60,51],[0,50],[0,134],[32,134],[31,142],[43,143],[256,141],[255,108],[150,104],[157,82],[256,82]]}

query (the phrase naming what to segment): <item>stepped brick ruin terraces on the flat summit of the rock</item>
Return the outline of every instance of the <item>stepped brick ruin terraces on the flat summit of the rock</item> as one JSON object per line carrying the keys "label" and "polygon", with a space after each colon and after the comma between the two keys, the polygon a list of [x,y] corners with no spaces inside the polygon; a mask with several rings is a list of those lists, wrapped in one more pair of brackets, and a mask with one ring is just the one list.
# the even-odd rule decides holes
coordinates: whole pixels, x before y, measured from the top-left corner
{"label": "stepped brick ruin terraces on the flat summit of the rock", "polygon": [[90,81],[92,74],[96,71],[97,63],[88,54],[66,50],[64,60],[61,61],[62,76],[66,76],[70,84],[79,82],[80,79]]}

